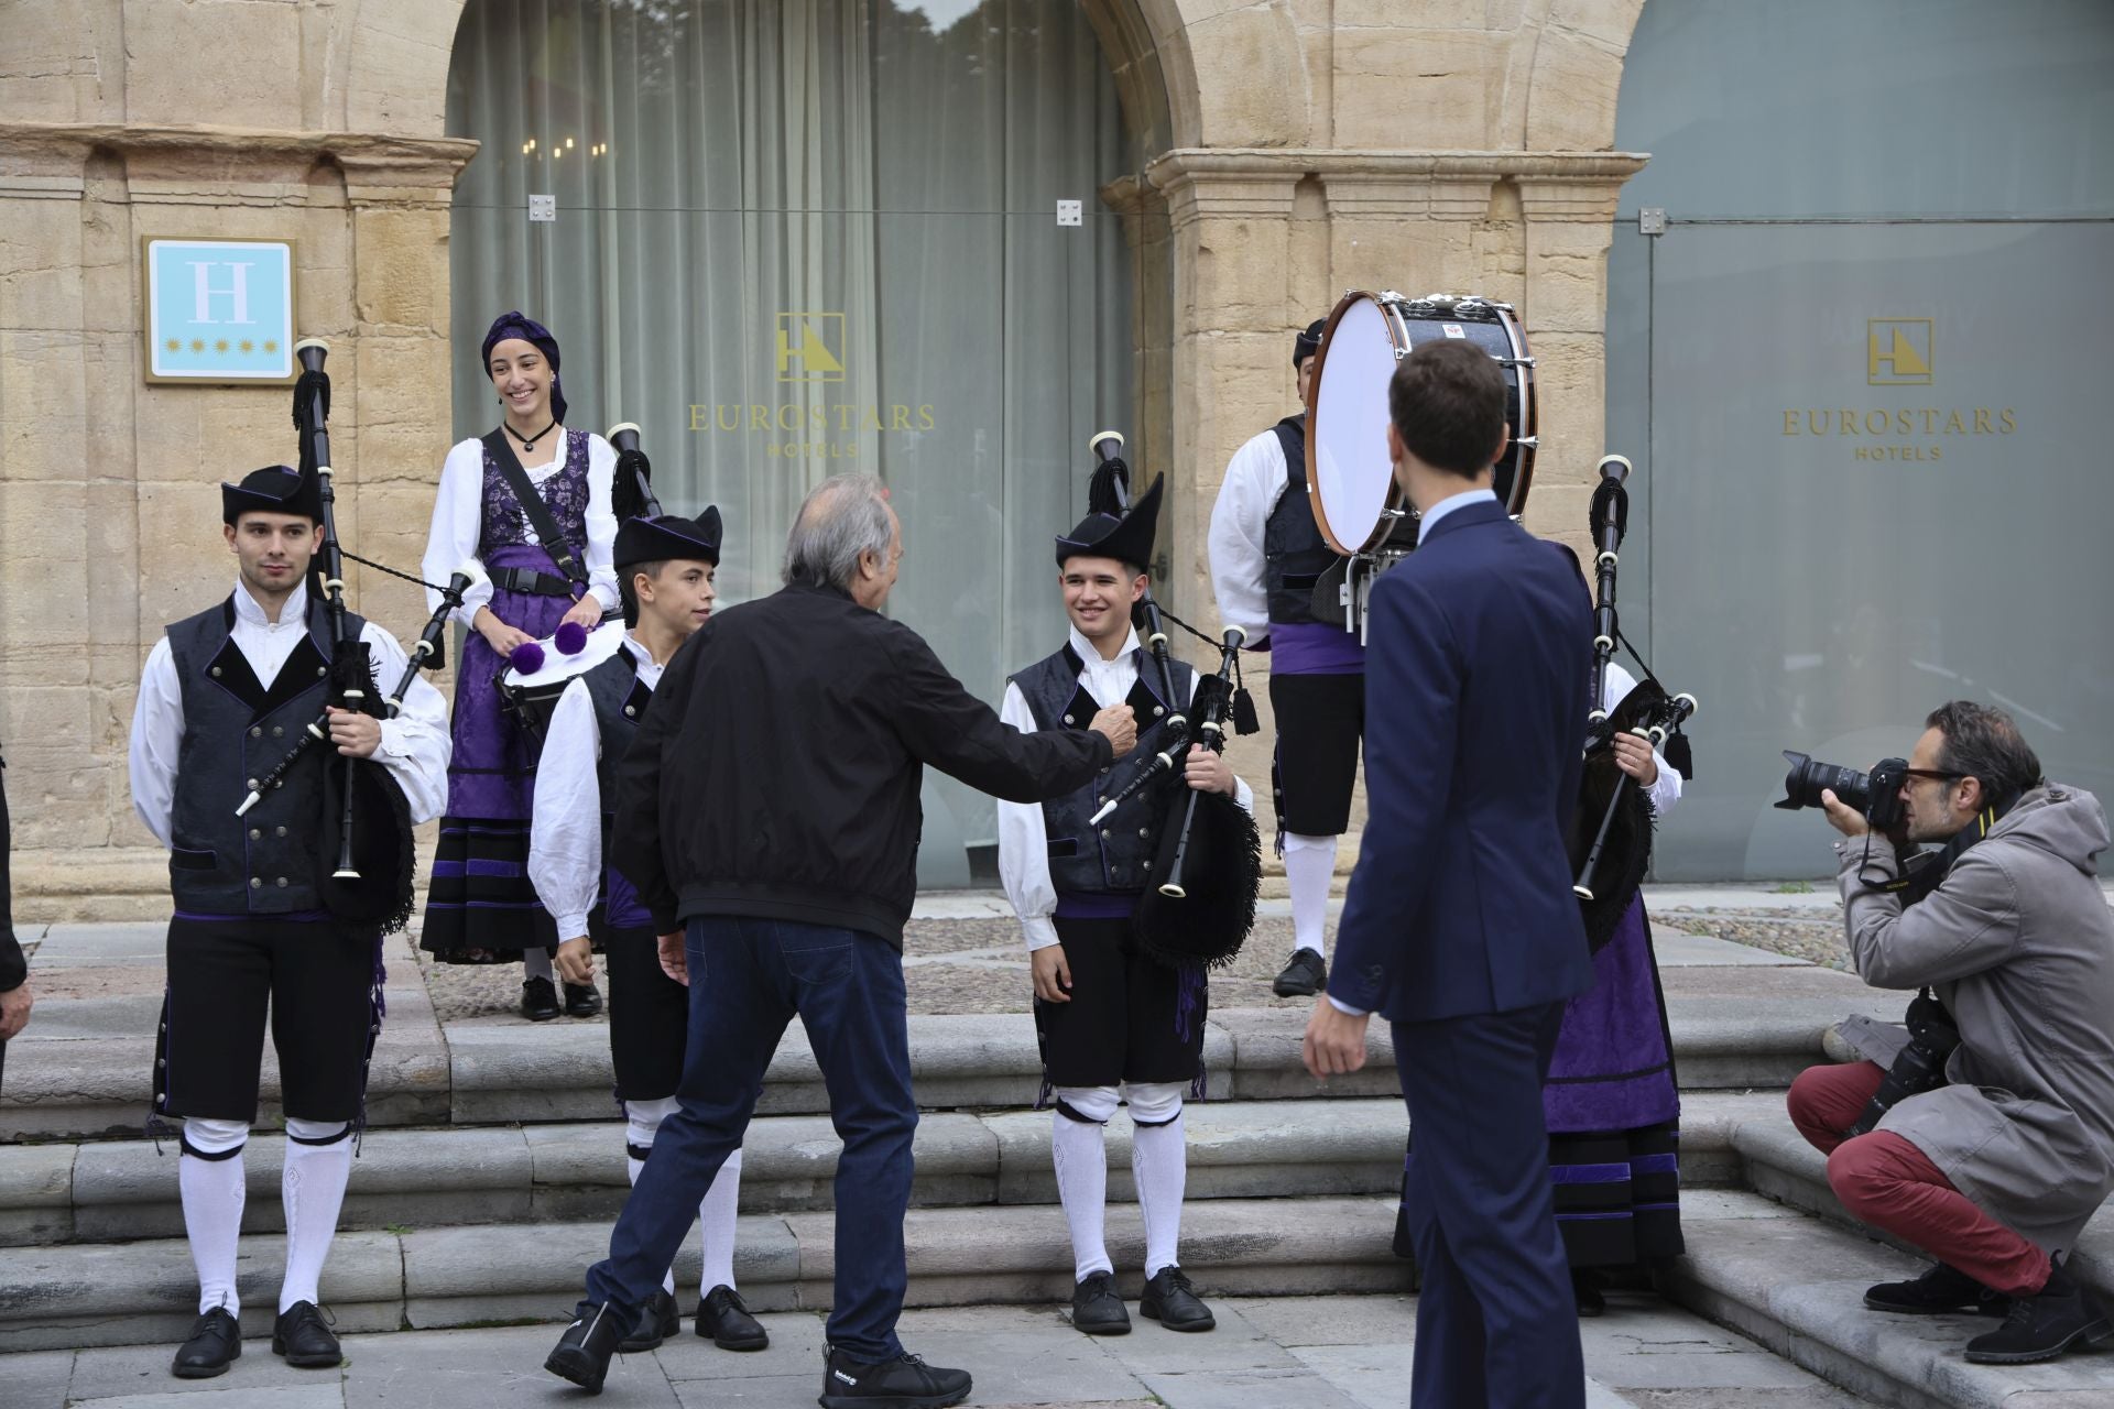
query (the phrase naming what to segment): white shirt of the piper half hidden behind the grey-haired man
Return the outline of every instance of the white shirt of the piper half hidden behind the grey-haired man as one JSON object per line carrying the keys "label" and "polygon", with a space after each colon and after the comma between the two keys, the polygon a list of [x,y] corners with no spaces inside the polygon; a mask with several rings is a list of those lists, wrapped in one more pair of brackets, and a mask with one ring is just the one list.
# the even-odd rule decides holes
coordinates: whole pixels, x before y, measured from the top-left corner
{"label": "white shirt of the piper half hidden behind the grey-haired man", "polygon": [[[664,665],[636,636],[626,636],[624,651],[638,670],[638,680],[660,689]],[[588,680],[579,678],[558,695],[550,731],[543,737],[543,758],[535,769],[535,809],[528,815],[528,881],[537,900],[558,923],[560,940],[588,934],[588,910],[602,894],[602,725],[594,716]]]}

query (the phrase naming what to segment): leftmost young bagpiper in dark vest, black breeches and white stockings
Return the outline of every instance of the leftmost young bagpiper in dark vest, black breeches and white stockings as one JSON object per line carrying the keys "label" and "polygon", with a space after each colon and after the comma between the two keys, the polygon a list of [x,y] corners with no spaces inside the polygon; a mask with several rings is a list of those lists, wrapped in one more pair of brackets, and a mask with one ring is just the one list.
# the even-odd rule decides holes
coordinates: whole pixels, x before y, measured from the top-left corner
{"label": "leftmost young bagpiper in dark vest, black breeches and white stockings", "polygon": [[[243,1221],[243,1143],[258,1113],[271,1012],[285,1109],[285,1278],[273,1352],[334,1367],[338,1337],[317,1282],[353,1166],[353,1126],[381,1033],[376,927],[323,908],[326,748],[300,754],[277,788],[237,807],[323,714],[336,649],[309,560],[323,515],[313,477],[260,469],[220,486],[233,596],[178,621],[148,653],[131,727],[133,807],[169,847],[169,991],[154,1052],[154,1115],[182,1120],[178,1185],[199,1270],[199,1322],[175,1352],[180,1379],[220,1375],[241,1356],[235,1244]],[[404,649],[351,617],[374,678],[391,689]],[[383,767],[412,822],[448,794],[448,708],[421,676],[397,718],[330,710],[330,748]],[[387,820],[374,818],[374,826]]]}

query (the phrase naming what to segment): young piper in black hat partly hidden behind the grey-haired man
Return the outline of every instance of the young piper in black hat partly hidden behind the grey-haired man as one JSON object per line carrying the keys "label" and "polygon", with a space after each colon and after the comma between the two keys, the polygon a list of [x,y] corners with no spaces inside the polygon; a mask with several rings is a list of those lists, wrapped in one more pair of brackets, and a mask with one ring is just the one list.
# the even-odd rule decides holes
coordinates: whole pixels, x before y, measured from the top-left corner
{"label": "young piper in black hat partly hidden behind the grey-haired man", "polygon": [[[632,1181],[653,1153],[653,1134],[676,1111],[689,993],[662,970],[653,919],[632,883],[609,864],[611,777],[653,703],[662,668],[712,615],[719,568],[719,509],[698,520],[634,518],[617,530],[617,589],[624,644],[586,672],[552,712],[535,782],[528,879],[558,921],[556,967],[567,984],[594,980],[594,944],[609,963],[609,1054],[624,1103],[624,1147]],[[592,936],[592,938],[590,938]],[[769,1335],[734,1291],[734,1217],[742,1151],[719,1166],[698,1217],[704,1227],[704,1295],[698,1335],[723,1350],[763,1350]],[[653,1293],[638,1329],[619,1350],[653,1350],[681,1329],[674,1270]]]}

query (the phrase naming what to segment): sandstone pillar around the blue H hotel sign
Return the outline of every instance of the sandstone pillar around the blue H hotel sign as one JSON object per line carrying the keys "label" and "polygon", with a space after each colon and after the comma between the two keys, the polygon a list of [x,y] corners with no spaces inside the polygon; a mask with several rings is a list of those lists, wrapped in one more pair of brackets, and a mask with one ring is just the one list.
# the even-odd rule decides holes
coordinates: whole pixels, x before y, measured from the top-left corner
{"label": "sandstone pillar around the blue H hotel sign", "polygon": [[[0,125],[0,249],[17,270],[0,277],[0,746],[27,919],[167,910],[125,767],[140,668],[167,621],[233,585],[220,482],[296,456],[285,387],[142,380],[140,241],[296,241],[298,332],[332,342],[340,530],[414,570],[450,422],[446,203],[474,150]],[[366,471],[361,442],[376,446]],[[349,581],[400,636],[423,621],[414,587]]]}

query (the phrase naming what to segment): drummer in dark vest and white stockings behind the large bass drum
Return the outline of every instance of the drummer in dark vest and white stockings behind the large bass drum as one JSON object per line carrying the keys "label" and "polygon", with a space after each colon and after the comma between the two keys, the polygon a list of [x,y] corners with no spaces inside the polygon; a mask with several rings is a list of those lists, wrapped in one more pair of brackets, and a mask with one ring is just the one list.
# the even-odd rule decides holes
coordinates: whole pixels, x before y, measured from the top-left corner
{"label": "drummer in dark vest and white stockings behind the large bass drum", "polygon": [[[1306,403],[1325,321],[1292,340],[1298,395]],[[1277,754],[1277,851],[1292,889],[1292,959],[1279,997],[1311,997],[1328,984],[1325,938],[1336,839],[1351,826],[1357,744],[1366,725],[1366,646],[1340,619],[1317,617],[1313,585],[1340,562],[1306,503],[1306,412],[1235,450],[1211,509],[1211,587],[1220,621],[1247,632],[1249,651],[1271,653]]]}

